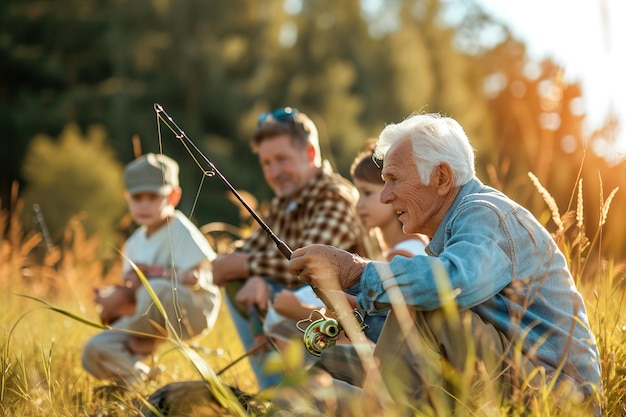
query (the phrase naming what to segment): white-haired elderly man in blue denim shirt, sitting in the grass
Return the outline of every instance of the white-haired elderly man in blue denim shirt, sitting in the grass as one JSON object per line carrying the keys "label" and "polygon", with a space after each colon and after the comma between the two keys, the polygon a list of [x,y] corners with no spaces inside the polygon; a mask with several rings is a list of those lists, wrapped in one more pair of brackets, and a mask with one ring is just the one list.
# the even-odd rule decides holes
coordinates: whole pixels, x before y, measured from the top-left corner
{"label": "white-haired elderly man in blue denim shirt, sitting in the grass", "polygon": [[290,268],[302,281],[328,291],[359,285],[361,309],[391,308],[367,374],[342,346],[325,351],[317,370],[363,386],[366,401],[376,398],[367,415],[389,404],[402,414],[498,410],[537,392],[551,392],[555,407],[599,414],[598,349],[566,259],[531,213],[476,178],[462,127],[413,115],[385,127],[375,156],[381,201],[405,233],[430,237],[430,256],[385,263],[324,245],[294,251]]}

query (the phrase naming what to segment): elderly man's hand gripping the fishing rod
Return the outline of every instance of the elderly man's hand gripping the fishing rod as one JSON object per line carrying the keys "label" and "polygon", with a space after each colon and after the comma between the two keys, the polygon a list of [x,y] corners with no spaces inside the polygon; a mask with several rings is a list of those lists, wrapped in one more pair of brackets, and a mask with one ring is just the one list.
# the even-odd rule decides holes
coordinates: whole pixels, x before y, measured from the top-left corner
{"label": "elderly man's hand gripping the fishing rod", "polygon": [[323,290],[346,289],[356,284],[369,261],[342,249],[310,245],[291,255],[289,269],[300,280]]}

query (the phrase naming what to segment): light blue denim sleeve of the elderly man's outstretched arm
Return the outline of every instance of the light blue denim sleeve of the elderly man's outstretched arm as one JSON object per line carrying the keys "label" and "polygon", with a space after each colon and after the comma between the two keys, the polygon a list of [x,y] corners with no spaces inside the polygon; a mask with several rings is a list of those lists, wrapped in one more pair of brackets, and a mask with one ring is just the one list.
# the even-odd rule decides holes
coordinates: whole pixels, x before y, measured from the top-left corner
{"label": "light blue denim sleeve of the elderly man's outstretched arm", "polygon": [[[511,282],[513,245],[500,214],[474,206],[448,225],[439,256],[395,257],[371,262],[361,275],[359,306],[367,312],[389,308],[393,297],[417,310],[441,306],[440,291],[453,291],[461,309],[493,297]],[[448,294],[450,292],[448,291]]]}

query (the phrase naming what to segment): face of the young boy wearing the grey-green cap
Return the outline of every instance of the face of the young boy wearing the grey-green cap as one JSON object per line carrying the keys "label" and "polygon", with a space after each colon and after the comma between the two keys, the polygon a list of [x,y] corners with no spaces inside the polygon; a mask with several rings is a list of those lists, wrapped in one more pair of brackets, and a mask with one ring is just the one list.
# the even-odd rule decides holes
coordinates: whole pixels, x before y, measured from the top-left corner
{"label": "face of the young boy wearing the grey-green cap", "polygon": [[147,233],[157,231],[167,222],[172,212],[168,197],[152,192],[139,192],[127,195],[128,209],[139,226],[145,226]]}

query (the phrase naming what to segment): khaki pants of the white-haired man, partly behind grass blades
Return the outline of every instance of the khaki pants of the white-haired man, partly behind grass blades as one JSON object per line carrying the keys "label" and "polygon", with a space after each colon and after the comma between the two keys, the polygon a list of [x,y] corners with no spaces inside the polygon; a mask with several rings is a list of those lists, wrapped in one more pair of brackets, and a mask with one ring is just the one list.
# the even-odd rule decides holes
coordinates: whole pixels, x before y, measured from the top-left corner
{"label": "khaki pants of the white-haired man, partly behind grass blades", "polygon": [[[472,311],[455,317],[414,312],[412,318],[414,325],[406,326],[391,313],[385,323],[374,351],[380,366],[364,383],[369,407],[442,416],[497,411],[514,385],[508,340]],[[519,361],[521,373],[534,369],[525,357]]]}

